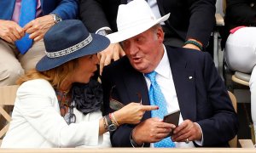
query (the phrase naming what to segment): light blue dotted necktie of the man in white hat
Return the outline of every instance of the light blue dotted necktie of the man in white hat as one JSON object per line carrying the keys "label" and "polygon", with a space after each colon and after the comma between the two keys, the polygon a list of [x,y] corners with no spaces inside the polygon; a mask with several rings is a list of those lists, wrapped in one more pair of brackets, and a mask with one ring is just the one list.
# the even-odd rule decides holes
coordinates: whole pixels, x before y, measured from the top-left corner
{"label": "light blue dotted necktie of the man in white hat", "polygon": [[[149,93],[148,93],[150,105],[159,106],[158,110],[151,111],[151,116],[159,117],[160,119],[163,119],[164,116],[167,114],[166,99],[164,97],[164,94],[162,94],[160,90],[160,86],[155,81],[155,75],[156,75],[155,71],[145,74],[145,76],[148,77],[151,82]],[[160,142],[154,143],[154,147],[174,148],[175,144],[172,142],[172,139],[170,139],[170,137],[167,137],[166,139],[162,139]]]}

